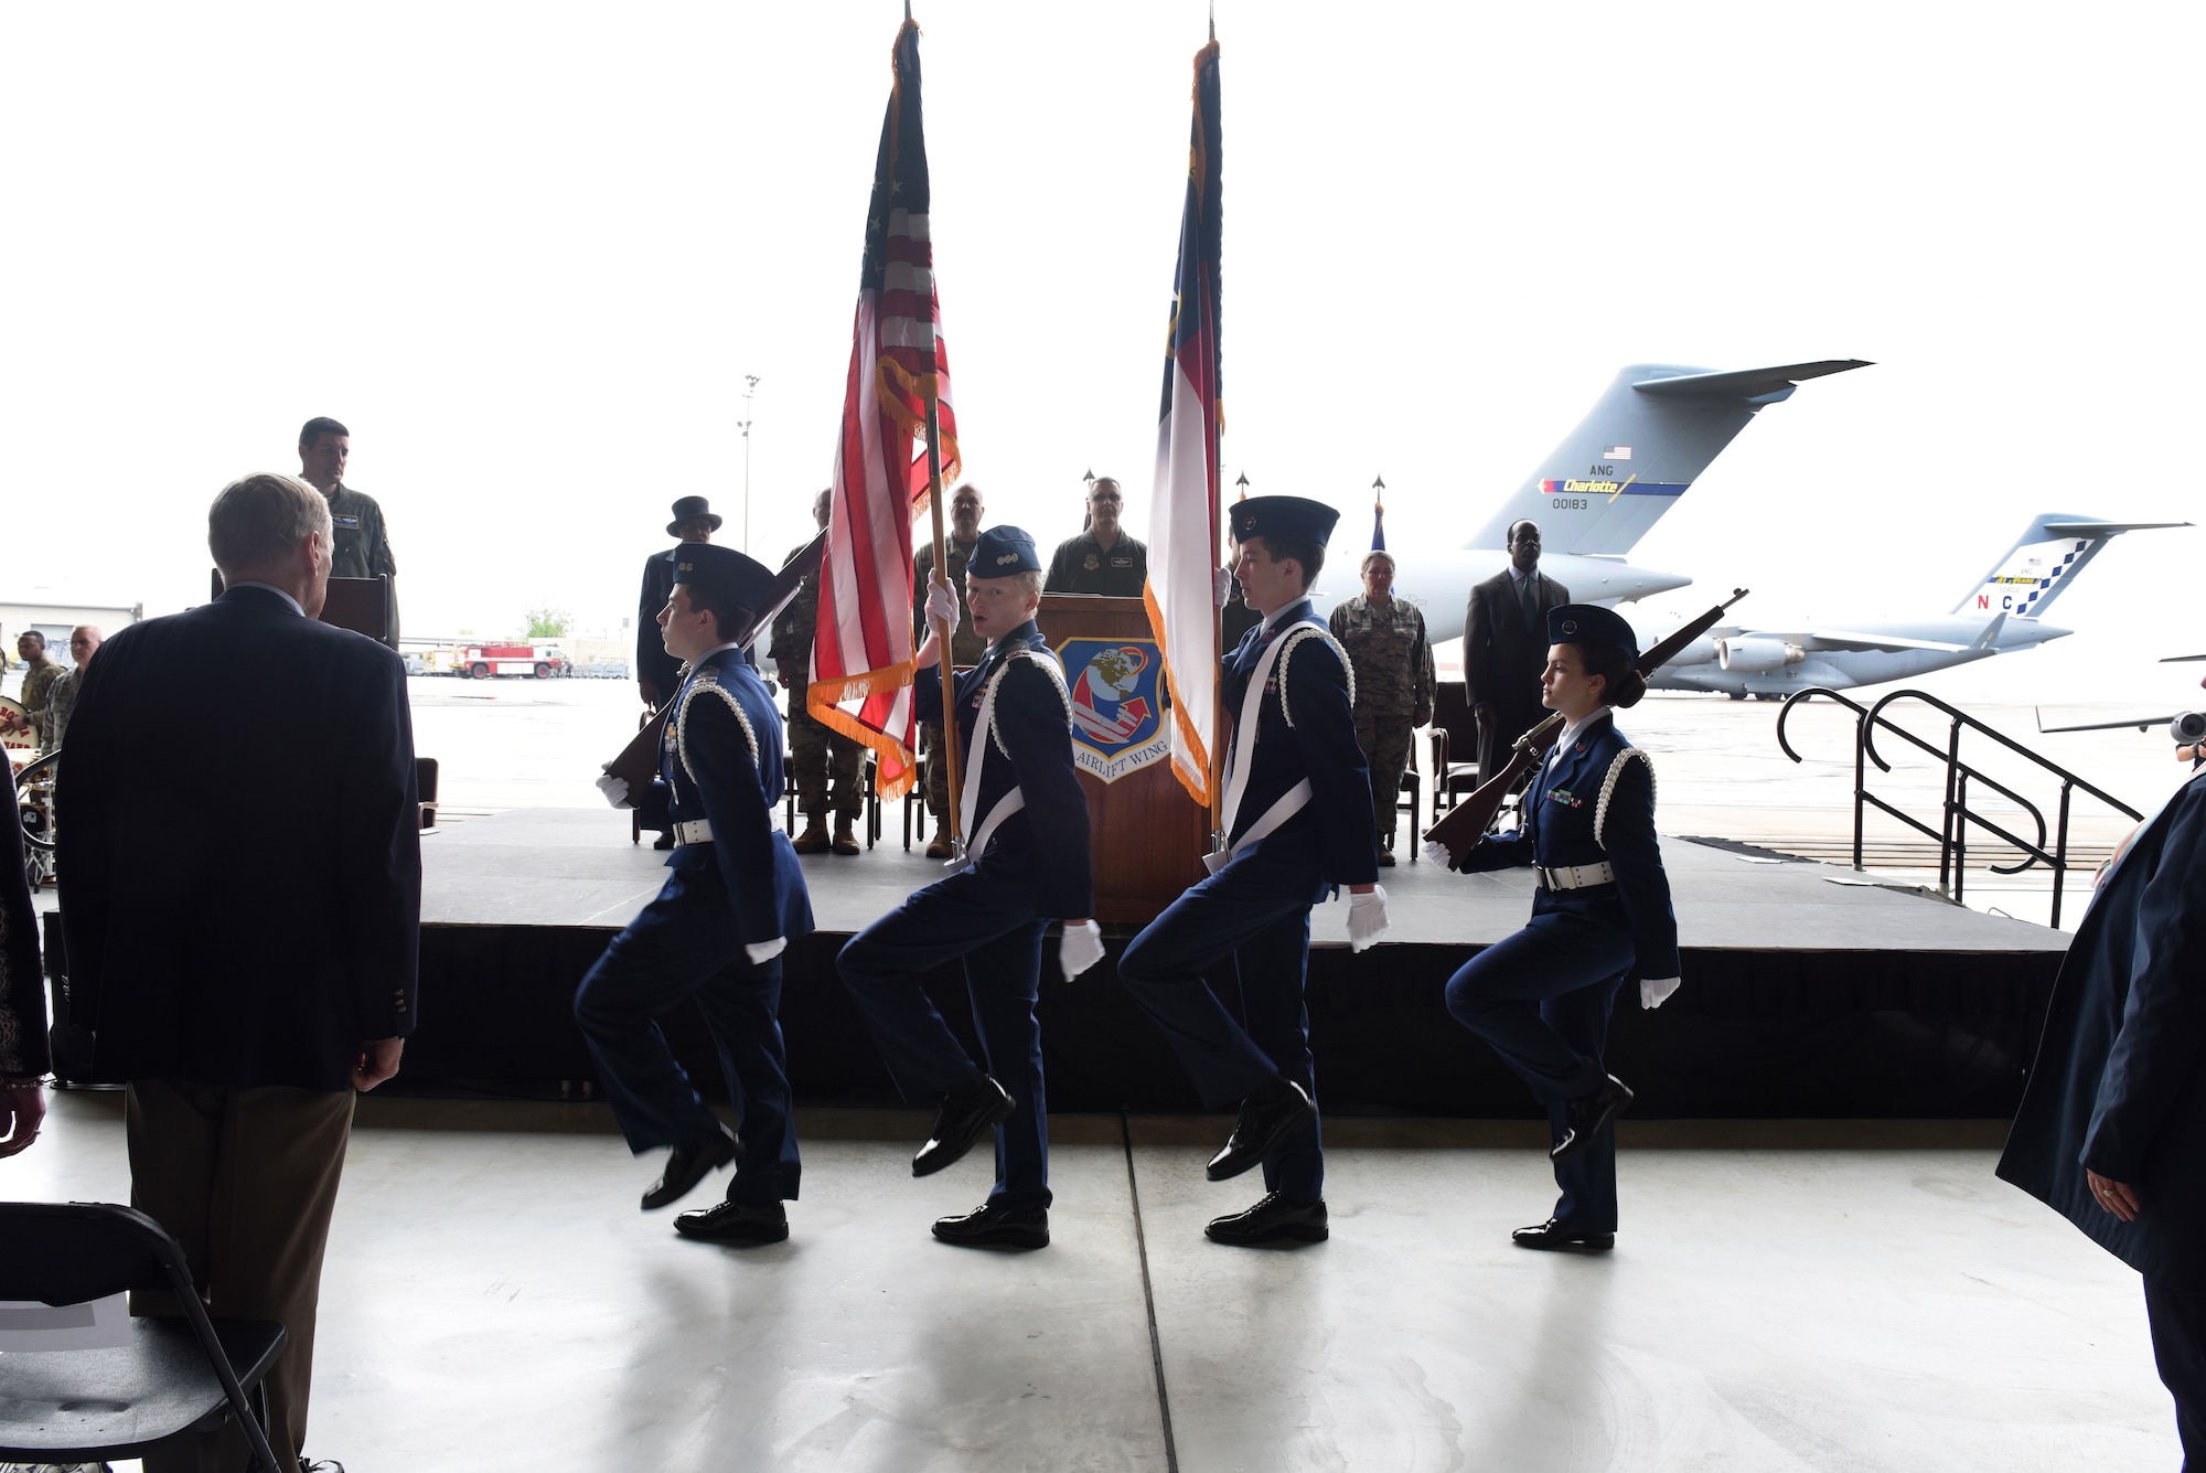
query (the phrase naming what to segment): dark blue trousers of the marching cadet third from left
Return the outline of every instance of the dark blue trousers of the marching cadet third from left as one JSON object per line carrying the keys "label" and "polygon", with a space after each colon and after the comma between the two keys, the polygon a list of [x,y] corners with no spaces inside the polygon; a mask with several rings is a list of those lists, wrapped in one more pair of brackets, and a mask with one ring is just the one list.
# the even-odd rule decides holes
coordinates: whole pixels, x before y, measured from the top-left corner
{"label": "dark blue trousers of the marching cadet third from left", "polygon": [[[1313,864],[1266,862],[1257,847],[1174,900],[1118,959],[1118,981],[1165,1030],[1204,1107],[1235,1105],[1282,1074],[1317,1098],[1302,981],[1321,886]],[[1238,1019],[1202,979],[1227,957],[1240,979]],[[1264,1162],[1264,1191],[1295,1204],[1326,1195],[1315,1118]]]}

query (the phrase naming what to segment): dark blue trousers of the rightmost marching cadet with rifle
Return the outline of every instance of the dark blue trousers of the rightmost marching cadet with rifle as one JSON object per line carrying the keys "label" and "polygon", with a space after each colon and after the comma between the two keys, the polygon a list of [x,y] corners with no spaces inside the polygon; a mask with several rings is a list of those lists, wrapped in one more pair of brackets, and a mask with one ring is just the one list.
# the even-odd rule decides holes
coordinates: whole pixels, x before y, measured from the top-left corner
{"label": "dark blue trousers of the rightmost marching cadet with rifle", "polygon": [[[1447,1010],[1493,1045],[1533,1096],[1562,1140],[1566,1105],[1608,1078],[1608,1008],[1632,970],[1632,937],[1571,911],[1544,911],[1487,946],[1447,979]],[[1617,1127],[1555,1164],[1555,1222],[1579,1233],[1617,1230]]]}

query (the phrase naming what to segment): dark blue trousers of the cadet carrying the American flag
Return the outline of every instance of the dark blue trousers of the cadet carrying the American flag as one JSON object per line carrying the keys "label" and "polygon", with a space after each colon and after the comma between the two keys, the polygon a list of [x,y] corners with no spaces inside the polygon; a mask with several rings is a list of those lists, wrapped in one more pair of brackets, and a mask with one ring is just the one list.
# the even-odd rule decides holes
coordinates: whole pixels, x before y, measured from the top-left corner
{"label": "dark blue trousers of the cadet carrying the American flag", "polygon": [[[907,1100],[935,1103],[990,1074],[1015,1105],[995,1127],[988,1200],[1026,1213],[1050,1204],[1050,1125],[1041,1087],[1041,933],[1035,889],[1004,858],[960,869],[904,897],[843,946],[838,966]],[[964,959],[982,1063],[957,1043],[920,979]]]}

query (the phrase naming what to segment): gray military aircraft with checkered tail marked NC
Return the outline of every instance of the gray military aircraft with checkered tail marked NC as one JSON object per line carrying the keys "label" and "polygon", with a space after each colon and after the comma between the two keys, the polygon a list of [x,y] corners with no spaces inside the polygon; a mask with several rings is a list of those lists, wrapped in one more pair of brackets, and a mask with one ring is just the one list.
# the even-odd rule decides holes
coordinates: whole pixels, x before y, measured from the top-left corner
{"label": "gray military aircraft with checkered tail marked NC", "polygon": [[[2038,516],[1948,615],[1829,628],[1716,626],[1648,684],[1657,690],[1723,690],[1741,701],[1749,695],[1780,701],[1807,686],[1875,686],[2036,648],[2074,633],[2047,624],[2043,615],[2107,542],[2124,531],[2188,525]],[[1661,637],[1654,620],[1639,628],[1641,639],[1650,635]]]}

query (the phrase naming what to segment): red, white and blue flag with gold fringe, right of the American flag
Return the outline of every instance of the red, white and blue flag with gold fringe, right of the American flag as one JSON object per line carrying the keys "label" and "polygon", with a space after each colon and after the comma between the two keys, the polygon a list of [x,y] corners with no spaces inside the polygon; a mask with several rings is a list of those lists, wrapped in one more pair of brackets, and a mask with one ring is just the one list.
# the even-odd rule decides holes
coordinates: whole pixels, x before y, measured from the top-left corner
{"label": "red, white and blue flag with gold fringe, right of the American flag", "polygon": [[1196,53],[1196,121],[1187,148],[1180,267],[1171,289],[1165,404],[1149,512],[1149,628],[1171,684],[1171,774],[1211,800],[1218,750],[1218,42]]}

